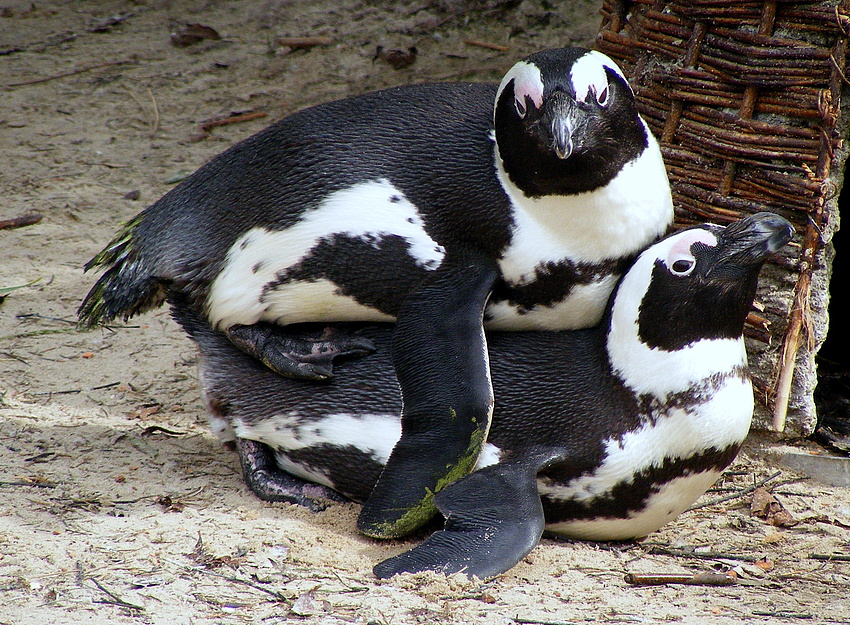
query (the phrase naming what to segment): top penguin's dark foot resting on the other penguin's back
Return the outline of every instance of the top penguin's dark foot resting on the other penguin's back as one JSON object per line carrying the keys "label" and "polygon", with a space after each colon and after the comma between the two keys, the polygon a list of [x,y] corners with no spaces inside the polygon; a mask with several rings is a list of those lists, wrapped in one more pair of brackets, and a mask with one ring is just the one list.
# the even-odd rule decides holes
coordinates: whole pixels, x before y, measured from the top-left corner
{"label": "top penguin's dark foot resting on the other penguin's back", "polygon": [[336,326],[327,327],[321,336],[314,337],[261,321],[250,326],[231,326],[224,334],[272,371],[296,380],[327,380],[333,377],[335,358],[365,356],[375,351],[369,339],[346,334]]}

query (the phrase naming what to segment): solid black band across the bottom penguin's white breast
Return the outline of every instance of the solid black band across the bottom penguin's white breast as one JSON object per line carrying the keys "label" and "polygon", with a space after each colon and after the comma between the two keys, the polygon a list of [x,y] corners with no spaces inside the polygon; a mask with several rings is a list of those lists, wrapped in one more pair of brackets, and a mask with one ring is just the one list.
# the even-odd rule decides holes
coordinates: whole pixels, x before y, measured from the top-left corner
{"label": "solid black band across the bottom penguin's white breast", "polygon": [[[667,482],[705,471],[722,471],[735,459],[740,447],[729,445],[720,450],[711,448],[687,458],[668,458],[660,467],[645,469],[635,474],[631,482],[621,482],[606,496],[590,501],[561,501],[543,497],[546,521],[558,523],[597,518],[626,519],[631,514],[643,510],[647,500],[658,493]],[[555,484],[568,481],[561,478],[557,467],[541,472],[540,475]]]}

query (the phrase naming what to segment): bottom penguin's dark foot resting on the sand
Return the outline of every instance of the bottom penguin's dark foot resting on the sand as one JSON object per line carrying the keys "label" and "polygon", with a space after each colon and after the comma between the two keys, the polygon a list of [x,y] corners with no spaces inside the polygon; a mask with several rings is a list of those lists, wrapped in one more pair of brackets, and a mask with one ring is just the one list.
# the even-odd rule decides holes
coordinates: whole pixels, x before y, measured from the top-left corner
{"label": "bottom penguin's dark foot resting on the sand", "polygon": [[294,503],[313,512],[324,510],[333,501],[348,501],[327,486],[307,482],[281,470],[274,452],[264,443],[237,438],[236,451],[245,483],[260,499]]}

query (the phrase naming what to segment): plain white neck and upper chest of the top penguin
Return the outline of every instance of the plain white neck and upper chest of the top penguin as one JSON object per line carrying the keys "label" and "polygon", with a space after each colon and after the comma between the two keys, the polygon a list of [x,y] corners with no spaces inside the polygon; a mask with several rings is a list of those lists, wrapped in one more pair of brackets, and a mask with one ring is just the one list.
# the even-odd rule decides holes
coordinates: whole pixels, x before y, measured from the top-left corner
{"label": "plain white neck and upper chest of the top penguin", "polygon": [[[514,211],[514,242],[553,246],[575,262],[599,263],[642,250],[673,220],[673,201],[657,142],[605,186],[571,195],[530,197],[505,171],[494,139],[496,174]],[[653,184],[663,181],[663,184]]]}

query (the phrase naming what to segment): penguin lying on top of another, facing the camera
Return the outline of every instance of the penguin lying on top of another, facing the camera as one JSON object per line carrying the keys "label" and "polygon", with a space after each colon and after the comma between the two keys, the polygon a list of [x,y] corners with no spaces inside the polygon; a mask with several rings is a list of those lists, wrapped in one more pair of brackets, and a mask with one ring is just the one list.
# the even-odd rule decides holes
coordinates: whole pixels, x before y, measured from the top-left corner
{"label": "penguin lying on top of another, facing the camera", "polygon": [[544,50],[498,85],[329,102],[236,144],[89,261],[103,275],[78,316],[91,326],[178,298],[270,369],[312,379],[373,346],[298,324],[395,322],[403,433],[359,527],[397,537],[436,514],[434,493],[481,453],[494,404],[483,326],[598,323],[672,218],[620,69],[599,52]]}

